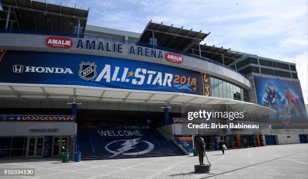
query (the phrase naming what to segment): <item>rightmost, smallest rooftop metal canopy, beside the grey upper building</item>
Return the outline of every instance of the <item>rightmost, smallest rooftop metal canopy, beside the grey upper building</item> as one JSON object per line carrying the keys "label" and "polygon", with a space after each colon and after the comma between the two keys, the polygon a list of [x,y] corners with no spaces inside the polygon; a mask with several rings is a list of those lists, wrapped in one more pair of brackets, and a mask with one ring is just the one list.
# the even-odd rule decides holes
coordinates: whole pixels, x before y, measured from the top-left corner
{"label": "rightmost, smallest rooftop metal canopy, beside the grey upper building", "polygon": [[[201,49],[201,56],[209,58],[211,60],[218,61],[219,63],[228,65],[232,63],[234,60],[242,57],[244,53],[242,52],[236,52],[229,49],[221,47],[215,47],[215,45],[209,46],[209,45],[201,45],[200,44],[200,49]],[[194,53],[199,55],[199,46],[198,44],[192,45],[192,47],[187,51],[190,53]]]}

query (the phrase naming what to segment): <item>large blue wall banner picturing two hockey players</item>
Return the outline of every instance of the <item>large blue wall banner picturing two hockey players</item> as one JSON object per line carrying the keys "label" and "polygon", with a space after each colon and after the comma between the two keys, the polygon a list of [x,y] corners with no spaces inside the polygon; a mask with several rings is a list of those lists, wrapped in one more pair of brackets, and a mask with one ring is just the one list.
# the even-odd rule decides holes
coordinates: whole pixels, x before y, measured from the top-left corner
{"label": "large blue wall banner picturing two hockey players", "polygon": [[263,117],[272,128],[307,128],[308,119],[298,81],[254,76],[257,101],[277,111]]}

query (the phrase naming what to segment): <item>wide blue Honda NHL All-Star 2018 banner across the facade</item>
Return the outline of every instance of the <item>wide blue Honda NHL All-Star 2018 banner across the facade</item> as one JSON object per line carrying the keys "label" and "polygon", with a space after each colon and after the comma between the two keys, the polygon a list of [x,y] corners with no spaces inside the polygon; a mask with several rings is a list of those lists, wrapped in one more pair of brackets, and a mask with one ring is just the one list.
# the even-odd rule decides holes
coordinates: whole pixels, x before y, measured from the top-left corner
{"label": "wide blue Honda NHL All-Star 2018 banner across the facade", "polygon": [[6,51],[0,82],[69,84],[211,96],[209,75],[144,61],[84,54]]}

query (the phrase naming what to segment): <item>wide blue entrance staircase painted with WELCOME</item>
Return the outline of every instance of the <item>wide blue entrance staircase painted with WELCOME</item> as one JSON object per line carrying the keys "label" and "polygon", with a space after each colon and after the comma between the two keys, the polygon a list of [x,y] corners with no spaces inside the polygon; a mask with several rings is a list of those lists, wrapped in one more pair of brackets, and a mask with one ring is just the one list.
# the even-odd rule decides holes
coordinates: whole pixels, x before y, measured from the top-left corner
{"label": "wide blue entrance staircase painted with WELCOME", "polygon": [[156,129],[78,129],[82,160],[185,155]]}

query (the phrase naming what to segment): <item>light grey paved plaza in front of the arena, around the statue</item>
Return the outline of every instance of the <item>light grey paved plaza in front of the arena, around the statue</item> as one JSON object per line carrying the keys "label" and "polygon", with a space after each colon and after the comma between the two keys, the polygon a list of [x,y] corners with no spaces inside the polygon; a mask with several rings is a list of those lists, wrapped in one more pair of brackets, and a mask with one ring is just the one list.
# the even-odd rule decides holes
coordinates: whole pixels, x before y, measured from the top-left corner
{"label": "light grey paved plaza in front of the arena, around the statue", "polygon": [[207,156],[211,172],[203,174],[194,172],[199,162],[192,155],[69,163],[60,158],[6,158],[0,168],[35,168],[35,176],[0,178],[308,178],[308,144],[233,149],[225,155],[208,151]]}

